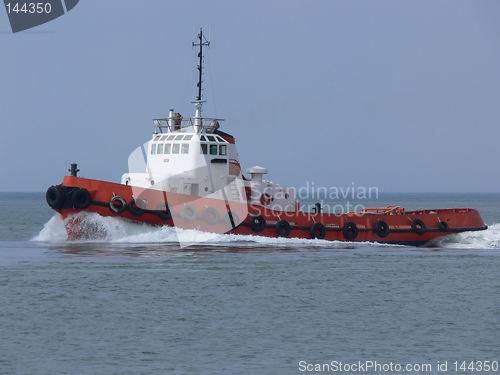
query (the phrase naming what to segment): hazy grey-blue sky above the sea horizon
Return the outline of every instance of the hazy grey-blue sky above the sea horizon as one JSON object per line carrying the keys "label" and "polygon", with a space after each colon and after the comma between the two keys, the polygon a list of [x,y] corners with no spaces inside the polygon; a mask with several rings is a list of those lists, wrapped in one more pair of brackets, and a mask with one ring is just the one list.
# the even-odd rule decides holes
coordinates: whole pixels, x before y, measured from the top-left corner
{"label": "hazy grey-blue sky above the sea horizon", "polygon": [[119,181],[153,117],[205,115],[276,182],[500,191],[500,1],[81,0],[12,34],[0,9],[0,191],[70,162]]}

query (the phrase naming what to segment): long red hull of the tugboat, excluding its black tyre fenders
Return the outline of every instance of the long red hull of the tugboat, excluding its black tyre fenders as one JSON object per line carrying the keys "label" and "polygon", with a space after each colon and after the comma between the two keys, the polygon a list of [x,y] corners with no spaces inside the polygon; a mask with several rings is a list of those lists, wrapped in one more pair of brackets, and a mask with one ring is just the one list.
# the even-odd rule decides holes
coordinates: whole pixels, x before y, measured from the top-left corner
{"label": "long red hull of the tugboat, excluding its black tyre fenders", "polygon": [[[137,213],[133,215],[128,209],[118,215],[110,209],[108,203],[115,195],[121,196],[126,202],[130,202],[133,199],[131,186],[72,176],[66,176],[62,186],[87,189],[92,197],[92,203],[85,209],[75,209],[71,205],[56,209],[64,218],[72,213],[88,211],[96,212],[102,216],[119,216],[154,225],[173,226],[175,221],[175,226],[185,229],[198,229],[216,233],[253,234],[266,237],[278,237],[276,223],[285,220],[290,225],[290,233],[287,237],[312,238],[311,227],[314,223],[321,223],[325,229],[323,233],[326,240],[370,241],[408,245],[424,244],[450,233],[484,230],[487,228],[479,212],[468,208],[406,211],[398,214],[352,213],[335,215],[300,211],[285,213],[266,209],[262,206],[231,202],[230,210],[232,211],[232,216],[234,216],[234,219],[239,217],[242,220],[242,223],[235,227],[234,222],[230,221],[231,215],[227,217],[227,209],[229,208],[227,202],[221,200],[195,198],[181,194],[140,189],[141,198],[145,198],[148,201],[147,209],[141,212],[140,215],[137,215]],[[134,187],[135,197],[137,197],[137,190],[138,188]],[[167,195],[168,199],[165,199]],[[171,205],[171,212],[174,219],[160,217],[158,211],[156,211],[156,207],[162,201],[168,201],[169,205]],[[183,219],[178,215],[179,211],[185,205],[195,207],[194,217],[191,217],[189,220]],[[207,223],[207,220],[203,220],[202,212],[204,209],[206,210],[206,207],[215,208],[220,213],[221,220],[218,220],[217,223]],[[244,217],[241,214],[238,215],[238,212],[243,213]],[[225,221],[224,214],[226,214]],[[261,215],[265,219],[266,225],[262,231],[255,232],[255,228],[252,228],[249,224],[250,218],[255,215]],[[424,223],[424,230],[415,230],[415,228],[412,228],[412,221],[417,219]],[[379,221],[385,222],[388,226],[387,233],[383,236],[380,235],[380,232],[377,233],[375,231],[375,226]],[[446,223],[446,227],[440,227],[440,222]],[[356,235],[354,239],[350,238],[353,233],[346,233],[343,229],[346,223],[355,224]]]}

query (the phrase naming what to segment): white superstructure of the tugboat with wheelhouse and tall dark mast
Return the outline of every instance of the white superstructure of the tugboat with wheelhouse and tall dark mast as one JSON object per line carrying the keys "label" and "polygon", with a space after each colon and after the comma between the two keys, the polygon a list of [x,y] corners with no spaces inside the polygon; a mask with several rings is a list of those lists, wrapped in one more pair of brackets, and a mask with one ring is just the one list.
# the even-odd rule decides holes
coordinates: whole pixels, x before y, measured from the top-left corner
{"label": "white superstructure of the tugboat with wheelhouse and tall dark mast", "polygon": [[[200,31],[200,64],[203,42]],[[170,110],[168,118],[154,119],[149,142],[129,158],[129,172],[121,183],[193,197],[211,196],[230,201],[246,201],[282,211],[296,211],[295,189],[263,180],[267,170],[253,167],[245,178],[234,138],[219,130],[223,119],[202,117],[201,73],[195,115],[183,119]],[[146,154],[146,155],[144,155]],[[145,157],[144,157],[145,156]],[[138,161],[139,160],[139,161]]]}

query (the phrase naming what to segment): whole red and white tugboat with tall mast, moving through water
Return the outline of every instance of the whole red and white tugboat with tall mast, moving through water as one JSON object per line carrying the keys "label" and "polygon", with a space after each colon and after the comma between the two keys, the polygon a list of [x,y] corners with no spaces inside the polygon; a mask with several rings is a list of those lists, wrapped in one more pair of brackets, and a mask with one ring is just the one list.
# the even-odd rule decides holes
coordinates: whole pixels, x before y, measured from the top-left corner
{"label": "whole red and white tugboat with tall mast, moving through water", "polygon": [[335,214],[300,209],[294,188],[266,181],[266,168],[241,171],[235,138],[220,130],[223,119],[202,116],[203,30],[199,48],[194,117],[173,109],[153,119],[152,138],[129,157],[121,183],[70,175],[51,186],[47,203],[65,219],[69,238],[78,238],[81,211],[153,225],[214,233],[253,234],[331,241],[371,241],[422,245],[450,233],[485,230],[479,212],[470,208],[406,211],[390,205]]}

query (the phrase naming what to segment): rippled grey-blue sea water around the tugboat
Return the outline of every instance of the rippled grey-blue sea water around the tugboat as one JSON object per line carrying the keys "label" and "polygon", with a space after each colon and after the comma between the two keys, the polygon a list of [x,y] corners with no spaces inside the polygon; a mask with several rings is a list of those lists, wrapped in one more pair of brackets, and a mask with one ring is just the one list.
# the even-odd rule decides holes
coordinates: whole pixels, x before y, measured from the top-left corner
{"label": "rippled grey-blue sea water around the tugboat", "polygon": [[0,193],[0,374],[500,362],[500,194],[361,203],[477,208],[490,228],[424,248],[193,233],[181,249],[171,228],[93,216],[106,240],[68,242],[44,194]]}

